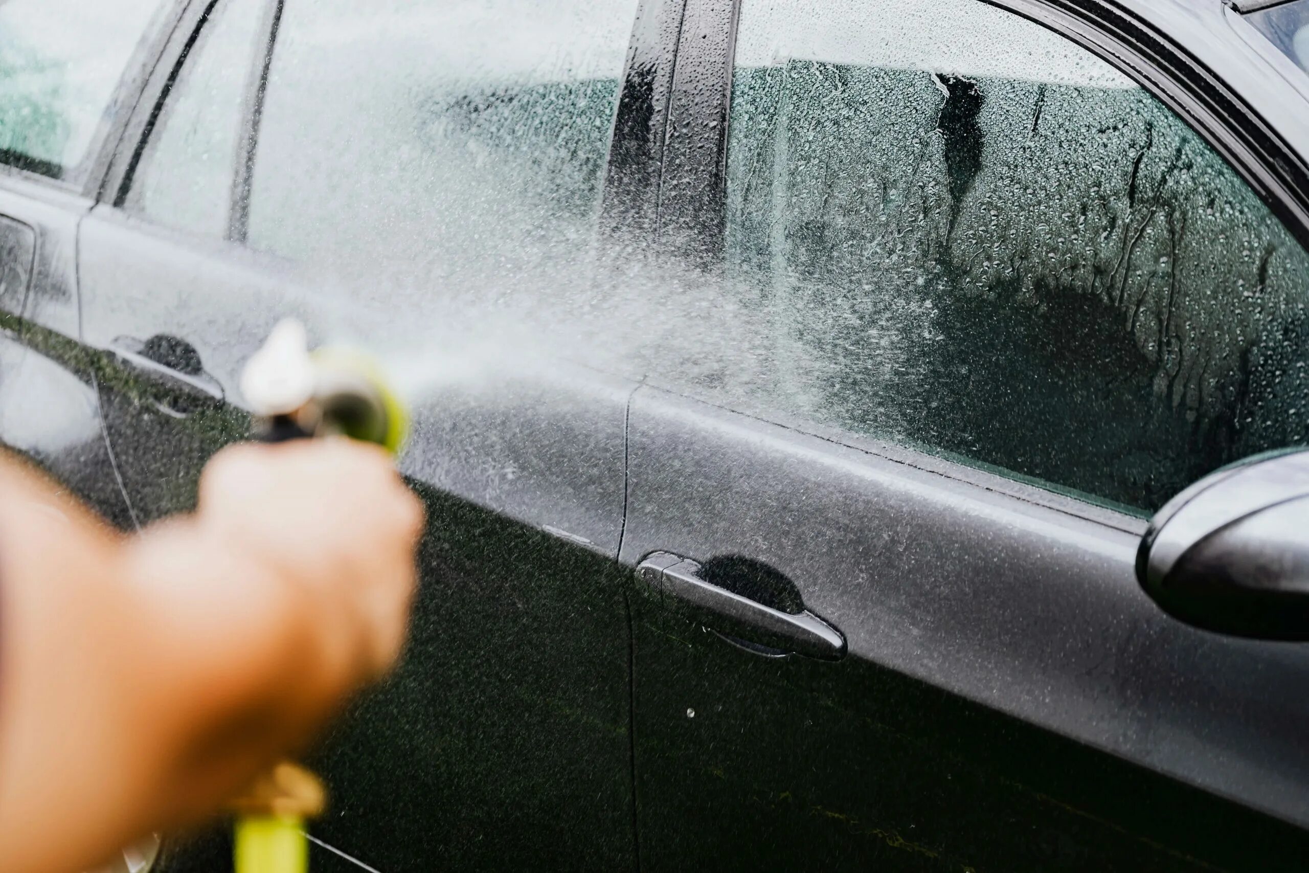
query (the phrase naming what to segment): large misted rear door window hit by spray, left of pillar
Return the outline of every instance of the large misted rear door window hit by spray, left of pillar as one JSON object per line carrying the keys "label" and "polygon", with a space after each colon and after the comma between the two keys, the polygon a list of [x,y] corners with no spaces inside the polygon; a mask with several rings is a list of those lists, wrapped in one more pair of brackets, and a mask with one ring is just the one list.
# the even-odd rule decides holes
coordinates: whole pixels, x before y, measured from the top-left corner
{"label": "large misted rear door window hit by spray, left of pillar", "polygon": [[590,240],[635,0],[287,0],[249,243],[391,293]]}

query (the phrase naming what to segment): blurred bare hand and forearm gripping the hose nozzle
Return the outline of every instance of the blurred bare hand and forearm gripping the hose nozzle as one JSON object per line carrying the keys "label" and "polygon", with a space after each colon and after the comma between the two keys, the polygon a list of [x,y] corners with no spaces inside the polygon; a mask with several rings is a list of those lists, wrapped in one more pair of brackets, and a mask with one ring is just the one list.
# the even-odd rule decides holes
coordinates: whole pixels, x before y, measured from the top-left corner
{"label": "blurred bare hand and forearm gripping the hose nozzle", "polygon": [[308,742],[394,665],[421,526],[346,440],[225,449],[131,538],[0,457],[0,869],[94,866]]}

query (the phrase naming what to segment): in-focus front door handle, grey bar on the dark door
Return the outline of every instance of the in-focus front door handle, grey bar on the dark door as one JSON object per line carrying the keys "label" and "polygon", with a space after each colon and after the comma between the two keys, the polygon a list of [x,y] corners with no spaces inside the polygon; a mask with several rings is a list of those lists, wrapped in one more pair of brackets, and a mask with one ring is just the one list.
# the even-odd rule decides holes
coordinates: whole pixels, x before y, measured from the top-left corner
{"label": "in-focus front door handle, grey bar on the dark door", "polygon": [[846,637],[809,610],[783,613],[713,585],[702,571],[696,561],[672,552],[654,552],[636,567],[636,575],[660,594],[666,609],[711,631],[810,658],[844,657]]}

